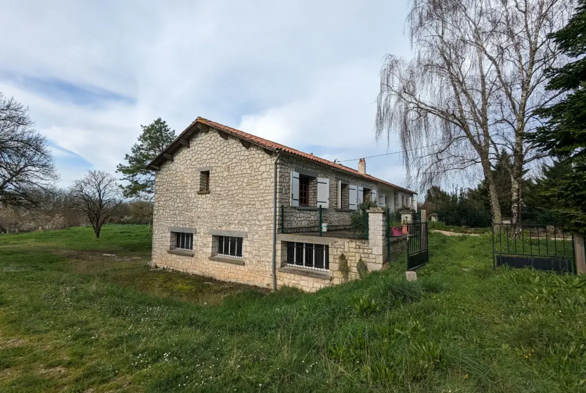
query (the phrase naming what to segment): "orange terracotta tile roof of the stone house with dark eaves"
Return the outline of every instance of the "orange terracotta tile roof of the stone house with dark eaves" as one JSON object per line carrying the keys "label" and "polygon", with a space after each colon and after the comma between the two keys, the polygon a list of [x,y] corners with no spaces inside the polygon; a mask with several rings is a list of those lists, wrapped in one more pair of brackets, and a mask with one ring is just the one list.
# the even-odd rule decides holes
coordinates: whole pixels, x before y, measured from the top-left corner
{"label": "orange terracotta tile roof of the stone house with dark eaves", "polygon": [[[393,183],[385,182],[384,180],[378,179],[377,177],[370,176],[370,175],[363,175],[362,173],[358,172],[357,170],[352,169],[352,168],[348,168],[347,166],[341,165],[339,163],[335,163],[335,162],[332,162],[330,160],[326,160],[325,158],[321,158],[321,157],[318,157],[318,156],[314,156],[314,155],[311,155],[311,154],[308,154],[308,153],[299,151],[297,149],[289,148],[289,146],[281,145],[281,143],[272,142],[272,141],[269,141],[268,139],[260,138],[260,136],[248,134],[247,132],[240,131],[239,129],[236,129],[236,128],[231,128],[231,127],[228,127],[228,126],[223,125],[223,124],[216,123],[214,121],[205,119],[203,117],[198,117],[197,119],[195,119],[195,121],[192,122],[192,124],[190,124],[189,127],[186,128],[185,131],[183,131],[181,133],[181,135],[179,135],[178,138],[175,139],[175,141],[173,143],[171,143],[171,145],[169,145],[168,148],[166,148],[165,149],[165,152],[163,152],[163,153],[168,152],[169,149],[171,149],[172,146],[175,143],[177,143],[179,141],[179,139],[184,134],[186,134],[186,132],[188,132],[188,130],[190,128],[193,127],[193,125],[195,125],[197,123],[205,124],[205,125],[208,125],[210,127],[213,127],[213,128],[216,128],[216,129],[220,129],[221,131],[224,131],[227,134],[231,134],[231,135],[237,136],[238,138],[242,138],[242,139],[244,139],[246,141],[255,143],[258,146],[261,146],[263,148],[270,149],[272,151],[280,150],[280,151],[283,151],[285,153],[289,153],[289,154],[296,155],[296,156],[299,156],[299,157],[302,157],[302,158],[305,158],[305,159],[308,159],[308,160],[311,160],[311,161],[314,161],[314,162],[321,163],[323,165],[331,166],[332,168],[336,168],[336,169],[339,169],[339,170],[343,170],[344,172],[347,172],[347,173],[352,173],[352,175],[359,176],[359,177],[363,177],[364,179],[370,180],[372,182],[377,182],[377,183],[385,184],[385,185],[387,185],[389,187],[393,187],[394,189],[398,189],[398,190],[401,190],[401,191],[404,191],[404,192],[408,192],[408,193],[412,193],[412,194],[417,194],[414,191],[411,191],[411,190],[408,190],[406,188],[397,186],[396,184],[393,184]],[[157,162],[159,160],[159,158],[161,158],[163,156],[163,153],[161,153],[161,155],[159,155],[156,159],[154,159],[151,164]],[[151,164],[149,164],[149,166]]]}

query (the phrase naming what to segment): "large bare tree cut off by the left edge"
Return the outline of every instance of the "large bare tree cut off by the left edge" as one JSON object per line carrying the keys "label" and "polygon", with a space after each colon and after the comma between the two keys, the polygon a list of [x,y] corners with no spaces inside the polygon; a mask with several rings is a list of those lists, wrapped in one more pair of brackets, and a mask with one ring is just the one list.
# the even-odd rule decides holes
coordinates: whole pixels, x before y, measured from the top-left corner
{"label": "large bare tree cut off by the left edge", "polygon": [[0,93],[0,204],[30,207],[59,179],[46,138],[28,108]]}

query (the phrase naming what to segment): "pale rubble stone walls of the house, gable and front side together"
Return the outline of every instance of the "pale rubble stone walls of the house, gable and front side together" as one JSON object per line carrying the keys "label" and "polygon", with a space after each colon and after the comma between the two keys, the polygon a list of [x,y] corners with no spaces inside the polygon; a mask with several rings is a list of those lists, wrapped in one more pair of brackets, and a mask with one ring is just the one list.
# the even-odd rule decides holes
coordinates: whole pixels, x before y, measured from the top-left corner
{"label": "pale rubble stone walls of the house, gable and front side together", "polygon": [[[225,136],[225,135],[224,135]],[[255,145],[248,148],[233,136],[224,138],[213,129],[200,132],[183,147],[173,160],[163,163],[155,177],[152,261],[157,266],[209,276],[223,281],[241,282],[270,288],[272,286],[272,220],[274,165],[277,156]],[[288,224],[311,227],[318,224],[318,210],[290,206],[291,170],[302,168],[330,180],[329,209],[323,209],[324,223],[349,223],[350,211],[340,211],[337,182],[343,179],[368,189],[376,183],[359,176],[340,173],[328,166],[302,158],[281,155],[278,164],[278,214],[288,209]],[[209,193],[200,193],[200,172],[210,171]],[[366,196],[368,198],[370,196]],[[316,196],[311,196],[315,198]],[[381,213],[380,210],[378,213]],[[290,214],[289,214],[290,213]],[[317,291],[343,281],[339,258],[344,254],[349,264],[349,279],[357,277],[360,258],[370,270],[379,269],[386,260],[381,217],[370,214],[369,240],[303,237],[305,242],[329,245],[329,272],[291,272],[286,268],[287,235],[277,242],[278,286],[295,286]],[[374,220],[374,221],[373,221]],[[280,220],[277,220],[280,228]],[[170,250],[171,232],[193,233],[193,251]],[[214,256],[219,233],[243,237],[243,258]],[[289,235],[298,236],[298,235]],[[298,238],[298,237],[295,237]],[[285,268],[285,269],[282,269]]]}

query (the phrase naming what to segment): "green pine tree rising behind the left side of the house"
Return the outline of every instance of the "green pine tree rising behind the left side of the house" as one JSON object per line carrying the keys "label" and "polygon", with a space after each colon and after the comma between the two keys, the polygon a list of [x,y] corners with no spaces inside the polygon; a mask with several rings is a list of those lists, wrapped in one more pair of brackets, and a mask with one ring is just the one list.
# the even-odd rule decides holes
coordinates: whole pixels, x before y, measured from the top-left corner
{"label": "green pine tree rising behind the left side of the house", "polygon": [[122,186],[124,197],[150,200],[155,192],[155,173],[147,165],[175,140],[175,130],[160,117],[141,128],[138,143],[132,146],[131,154],[124,156],[128,165],[118,164],[116,172],[122,173],[121,180],[129,183]]}

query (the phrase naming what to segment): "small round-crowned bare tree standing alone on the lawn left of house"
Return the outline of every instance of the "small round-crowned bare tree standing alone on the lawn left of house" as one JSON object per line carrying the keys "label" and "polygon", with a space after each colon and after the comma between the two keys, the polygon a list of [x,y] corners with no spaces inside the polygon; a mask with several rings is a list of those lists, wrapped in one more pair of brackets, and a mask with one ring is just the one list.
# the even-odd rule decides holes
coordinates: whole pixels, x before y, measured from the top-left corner
{"label": "small round-crowned bare tree standing alone on the lawn left of house", "polygon": [[88,170],[86,177],[73,182],[70,192],[77,209],[86,216],[96,237],[100,238],[102,226],[122,203],[116,178],[104,170]]}

